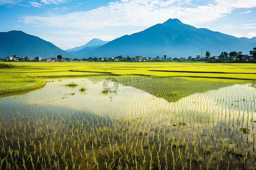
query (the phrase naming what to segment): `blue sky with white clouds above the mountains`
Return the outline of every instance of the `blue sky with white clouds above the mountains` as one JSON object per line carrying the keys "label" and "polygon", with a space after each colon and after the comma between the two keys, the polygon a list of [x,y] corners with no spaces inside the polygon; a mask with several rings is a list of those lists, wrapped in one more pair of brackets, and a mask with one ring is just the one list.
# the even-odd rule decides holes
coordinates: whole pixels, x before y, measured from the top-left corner
{"label": "blue sky with white clouds above the mountains", "polygon": [[0,0],[0,32],[21,30],[66,50],[177,18],[196,28],[252,38],[255,9],[255,0]]}

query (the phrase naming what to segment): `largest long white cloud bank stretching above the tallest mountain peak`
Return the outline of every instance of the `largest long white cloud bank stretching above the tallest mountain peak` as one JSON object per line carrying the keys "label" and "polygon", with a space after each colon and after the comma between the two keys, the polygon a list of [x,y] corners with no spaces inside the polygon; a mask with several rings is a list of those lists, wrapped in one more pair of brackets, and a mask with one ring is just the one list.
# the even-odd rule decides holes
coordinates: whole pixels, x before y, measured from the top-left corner
{"label": "largest long white cloud bank stretching above the tallest mountain peak", "polygon": [[190,3],[190,1],[179,0],[122,0],[110,2],[108,6],[86,12],[72,12],[50,17],[26,16],[24,19],[47,26],[66,27],[65,23],[68,23],[74,28],[90,29],[108,26],[152,26],[163,23],[169,18],[178,18],[183,23],[196,25],[211,22],[232,12],[230,3],[224,3],[226,1],[194,8],[182,7],[180,2]]}

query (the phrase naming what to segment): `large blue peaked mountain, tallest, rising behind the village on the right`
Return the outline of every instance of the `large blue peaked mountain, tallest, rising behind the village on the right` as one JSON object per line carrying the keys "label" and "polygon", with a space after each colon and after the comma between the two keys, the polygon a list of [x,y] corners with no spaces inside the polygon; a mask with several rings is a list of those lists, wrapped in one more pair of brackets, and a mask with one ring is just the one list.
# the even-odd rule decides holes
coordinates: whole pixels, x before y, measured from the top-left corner
{"label": "large blue peaked mountain, tallest, rising behind the village on the right", "polygon": [[[201,53],[205,56],[205,51],[211,52],[211,56],[218,56],[222,51],[242,51],[243,54],[249,54],[253,47],[256,47],[256,37],[237,38],[206,28],[195,28],[178,19],[169,19],[144,31],[110,41],[95,51],[101,57],[143,55],[154,58],[157,55],[167,55],[167,58],[193,58]],[[84,54],[86,57],[93,55],[96,55],[93,51]]]}

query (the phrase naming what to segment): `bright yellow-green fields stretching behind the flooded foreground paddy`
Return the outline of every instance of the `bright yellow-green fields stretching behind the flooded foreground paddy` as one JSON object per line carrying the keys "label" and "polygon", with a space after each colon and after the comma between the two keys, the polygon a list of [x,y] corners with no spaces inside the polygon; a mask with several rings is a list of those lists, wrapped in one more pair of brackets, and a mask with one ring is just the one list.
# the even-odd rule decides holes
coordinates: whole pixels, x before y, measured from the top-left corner
{"label": "bright yellow-green fields stretching behind the flooded foreground paddy", "polygon": [[[151,77],[184,77],[185,79],[215,84],[237,83],[256,80],[256,64],[254,63],[205,63],[205,62],[1,62],[12,65],[11,68],[0,69],[0,96],[8,96],[42,88],[45,79],[75,77],[106,76],[151,76]],[[199,78],[199,79],[196,79]],[[202,79],[205,78],[205,79]],[[181,80],[181,79],[179,79]],[[184,80],[184,79],[183,79]],[[232,81],[233,80],[233,81]],[[168,82],[167,82],[168,83]],[[183,82],[184,84],[184,82]],[[211,83],[210,83],[211,84]],[[231,85],[230,84],[230,85]],[[173,87],[173,85],[167,85]],[[218,87],[222,87],[219,85]],[[158,86],[156,86],[158,87]],[[187,84],[185,87],[191,87]],[[161,94],[168,101],[195,92],[209,90],[193,87],[191,93],[172,89],[168,96]],[[217,88],[217,87],[216,87]],[[214,88],[214,89],[216,89]],[[184,88],[183,89],[188,89]],[[200,89],[200,90],[199,90]],[[157,90],[155,90],[157,91]],[[186,91],[186,90],[185,90]],[[184,93],[181,95],[180,93]],[[159,96],[159,95],[158,95]],[[159,96],[159,97],[160,97]],[[180,97],[177,97],[180,96]],[[175,99],[176,98],[176,99]]]}

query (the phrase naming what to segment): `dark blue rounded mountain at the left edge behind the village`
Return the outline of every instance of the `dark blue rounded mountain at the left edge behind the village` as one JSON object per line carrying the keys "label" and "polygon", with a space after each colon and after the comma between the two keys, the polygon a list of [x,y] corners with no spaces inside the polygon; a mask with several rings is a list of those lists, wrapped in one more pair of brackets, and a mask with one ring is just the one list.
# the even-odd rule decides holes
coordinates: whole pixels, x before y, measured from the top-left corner
{"label": "dark blue rounded mountain at the left edge behind the village", "polygon": [[22,31],[0,32],[0,55],[2,57],[17,55],[18,57],[51,58],[62,55],[64,58],[76,58],[71,53],[56,47],[51,42]]}

